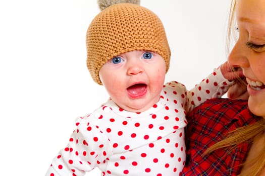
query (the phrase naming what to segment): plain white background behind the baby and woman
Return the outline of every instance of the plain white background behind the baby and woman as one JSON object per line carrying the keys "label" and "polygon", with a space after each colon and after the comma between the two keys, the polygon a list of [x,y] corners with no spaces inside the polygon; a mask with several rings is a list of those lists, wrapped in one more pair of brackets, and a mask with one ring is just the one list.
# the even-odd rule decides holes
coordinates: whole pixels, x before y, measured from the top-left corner
{"label": "plain white background behind the baby and woman", "polygon": [[[164,23],[172,51],[167,81],[190,89],[226,60],[230,1],[141,5]],[[108,99],[86,68],[85,34],[97,13],[96,0],[1,1],[1,175],[44,175],[75,118]]]}

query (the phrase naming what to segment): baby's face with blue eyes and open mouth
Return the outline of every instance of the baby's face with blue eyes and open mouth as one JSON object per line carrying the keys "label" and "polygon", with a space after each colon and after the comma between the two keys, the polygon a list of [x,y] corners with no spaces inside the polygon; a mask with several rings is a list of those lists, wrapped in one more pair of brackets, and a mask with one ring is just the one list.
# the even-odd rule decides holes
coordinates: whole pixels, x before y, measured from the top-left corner
{"label": "baby's face with blue eyes and open mouth", "polygon": [[112,100],[122,109],[143,112],[160,99],[166,75],[163,57],[134,50],[110,59],[99,77]]}

